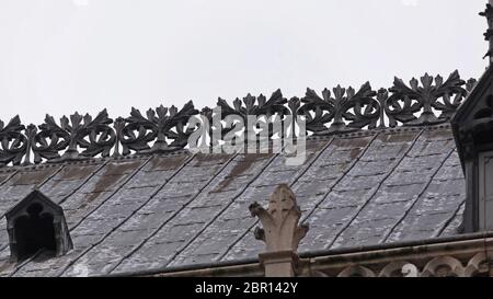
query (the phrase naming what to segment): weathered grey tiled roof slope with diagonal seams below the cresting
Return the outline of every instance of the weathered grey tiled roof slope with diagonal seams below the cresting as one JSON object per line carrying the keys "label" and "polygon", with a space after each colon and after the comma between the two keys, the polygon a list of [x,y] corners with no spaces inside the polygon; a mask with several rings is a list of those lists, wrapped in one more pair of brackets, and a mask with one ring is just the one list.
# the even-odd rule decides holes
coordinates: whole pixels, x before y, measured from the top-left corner
{"label": "weathered grey tiled roof slope with diagonal seams below the cresting", "polygon": [[297,196],[310,230],[300,253],[457,233],[465,180],[448,125],[310,138],[300,166],[283,154],[100,158],[0,170],[0,214],[38,187],[61,205],[74,249],[9,262],[0,276],[93,276],[256,257],[248,206],[277,184]]}

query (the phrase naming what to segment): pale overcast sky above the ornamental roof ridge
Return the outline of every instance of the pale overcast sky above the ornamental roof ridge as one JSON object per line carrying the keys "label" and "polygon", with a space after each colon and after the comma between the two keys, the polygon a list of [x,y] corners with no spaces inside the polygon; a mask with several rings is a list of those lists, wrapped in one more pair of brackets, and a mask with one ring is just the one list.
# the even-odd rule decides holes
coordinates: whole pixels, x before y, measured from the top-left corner
{"label": "pale overcast sky above the ornamental roof ridge", "polygon": [[0,119],[478,78],[485,0],[0,0]]}

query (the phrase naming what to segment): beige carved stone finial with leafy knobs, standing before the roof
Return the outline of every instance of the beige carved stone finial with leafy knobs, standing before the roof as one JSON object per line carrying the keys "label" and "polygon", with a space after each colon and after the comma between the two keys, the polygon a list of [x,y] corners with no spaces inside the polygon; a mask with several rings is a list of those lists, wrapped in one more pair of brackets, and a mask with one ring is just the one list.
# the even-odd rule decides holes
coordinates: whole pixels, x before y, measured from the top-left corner
{"label": "beige carved stone finial with leafy knobs, standing before the roof", "polygon": [[271,195],[268,208],[257,203],[250,206],[252,216],[259,217],[261,228],[255,229],[255,238],[266,244],[260,260],[265,267],[265,276],[294,276],[298,261],[299,242],[308,232],[308,223],[298,225],[301,210],[291,189],[282,184]]}

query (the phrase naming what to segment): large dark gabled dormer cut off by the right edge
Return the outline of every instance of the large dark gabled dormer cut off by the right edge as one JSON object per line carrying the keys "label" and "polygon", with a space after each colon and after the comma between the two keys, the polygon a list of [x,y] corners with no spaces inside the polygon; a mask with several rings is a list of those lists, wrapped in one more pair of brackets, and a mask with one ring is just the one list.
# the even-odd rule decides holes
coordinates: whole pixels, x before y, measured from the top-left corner
{"label": "large dark gabled dormer cut off by the right edge", "polygon": [[493,230],[493,68],[451,119],[466,177],[462,231]]}

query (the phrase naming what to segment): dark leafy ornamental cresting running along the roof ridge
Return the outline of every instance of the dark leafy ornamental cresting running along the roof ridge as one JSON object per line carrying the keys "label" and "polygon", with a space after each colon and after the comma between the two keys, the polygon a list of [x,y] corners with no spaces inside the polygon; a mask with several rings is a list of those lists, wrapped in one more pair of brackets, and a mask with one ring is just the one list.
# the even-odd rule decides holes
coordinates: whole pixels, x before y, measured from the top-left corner
{"label": "dark leafy ornamental cresting running along the roof ridge", "polygon": [[[222,120],[230,115],[243,119],[249,115],[282,119],[288,115],[291,119],[301,116],[308,136],[443,124],[449,120],[474,84],[475,80],[466,82],[454,71],[447,80],[426,73],[420,81],[412,79],[409,85],[395,78],[392,88],[378,92],[368,82],[358,90],[341,85],[332,92],[325,89],[321,95],[308,89],[303,97],[289,100],[277,90],[268,100],[262,94],[248,94],[243,100],[234,100],[232,105],[219,99],[215,108],[205,107],[202,112],[193,102],[182,110],[160,106],[145,115],[133,108],[129,117],[116,120],[108,117],[106,110],[94,118],[74,113],[61,117],[60,123],[47,115],[39,126],[25,126],[15,116],[8,125],[0,122],[0,166],[182,150],[187,147],[188,137],[199,129],[198,124],[188,123],[191,116],[211,119],[215,113],[220,113]],[[220,128],[219,136],[223,137],[233,127]],[[260,138],[265,136],[262,135],[265,128],[255,124],[255,128],[246,128],[243,134],[254,130],[255,137]],[[209,135],[217,129],[217,124],[210,126]],[[295,137],[298,136],[294,126],[291,130]],[[273,134],[270,125],[267,136],[271,138]],[[218,141],[207,142],[213,147]]]}

